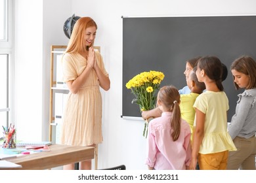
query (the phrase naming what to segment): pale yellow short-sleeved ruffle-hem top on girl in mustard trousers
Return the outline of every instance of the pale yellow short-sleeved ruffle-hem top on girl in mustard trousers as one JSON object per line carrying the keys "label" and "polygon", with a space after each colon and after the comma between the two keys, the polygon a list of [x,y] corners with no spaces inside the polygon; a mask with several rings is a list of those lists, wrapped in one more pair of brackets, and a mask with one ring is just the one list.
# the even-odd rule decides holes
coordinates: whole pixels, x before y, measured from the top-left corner
{"label": "pale yellow short-sleeved ruffle-hem top on girl in mustard trousers", "polygon": [[[194,108],[205,114],[204,137],[199,150],[200,154],[236,150],[226,127],[226,112],[229,108],[226,93],[203,92],[196,98]],[[194,125],[196,125],[196,120]]]}

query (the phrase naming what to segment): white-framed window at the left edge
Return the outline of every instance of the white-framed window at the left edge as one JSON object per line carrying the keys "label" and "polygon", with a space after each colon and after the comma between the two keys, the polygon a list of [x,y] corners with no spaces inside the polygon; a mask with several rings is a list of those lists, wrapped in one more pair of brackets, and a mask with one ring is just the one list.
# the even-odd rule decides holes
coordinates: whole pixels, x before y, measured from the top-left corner
{"label": "white-framed window at the left edge", "polygon": [[11,117],[11,58],[12,0],[0,0],[0,125],[4,127],[9,126]]}

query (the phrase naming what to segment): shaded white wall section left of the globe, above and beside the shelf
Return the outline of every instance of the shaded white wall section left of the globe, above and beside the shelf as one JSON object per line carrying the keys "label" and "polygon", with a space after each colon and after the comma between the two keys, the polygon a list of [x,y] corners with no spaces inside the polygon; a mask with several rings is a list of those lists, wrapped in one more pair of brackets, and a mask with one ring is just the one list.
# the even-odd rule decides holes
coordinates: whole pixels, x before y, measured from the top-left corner
{"label": "shaded white wall section left of the globe, above and beside the shelf", "polygon": [[70,0],[43,0],[43,133],[42,138],[49,138],[49,97],[51,45],[67,45],[63,25],[71,15]]}

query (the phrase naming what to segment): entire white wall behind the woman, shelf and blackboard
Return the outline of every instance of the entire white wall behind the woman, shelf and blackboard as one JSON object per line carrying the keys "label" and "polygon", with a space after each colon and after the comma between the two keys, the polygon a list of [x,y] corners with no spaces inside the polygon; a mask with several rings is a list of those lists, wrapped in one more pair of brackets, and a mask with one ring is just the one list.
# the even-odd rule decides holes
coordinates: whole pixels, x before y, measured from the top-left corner
{"label": "entire white wall behind the woman, shelf and blackboard", "polygon": [[[33,4],[33,0],[22,0]],[[98,24],[95,46],[101,46],[106,70],[110,74],[111,88],[103,95],[103,136],[104,142],[99,146],[98,168],[125,164],[127,169],[146,169],[144,158],[146,140],[142,137],[144,124],[142,121],[123,120],[122,107],[122,19],[121,16],[211,16],[211,15],[251,15],[256,14],[256,1],[253,0],[46,0],[43,10],[28,10],[29,15],[43,14],[42,24],[36,27],[38,38],[33,37],[32,30],[18,33],[18,66],[16,67],[16,120],[18,126],[37,125],[37,139],[48,134],[49,119],[49,46],[65,44],[67,39],[62,31],[66,18],[75,13],[77,16],[91,16]],[[63,3],[62,3],[63,2]],[[22,4],[20,2],[20,4]],[[20,6],[20,10],[25,7]],[[20,14],[19,14],[20,15]],[[28,15],[28,16],[29,16]],[[21,15],[20,15],[21,16]],[[24,15],[22,15],[23,18]],[[41,18],[41,17],[40,17]],[[22,18],[18,18],[21,20]],[[23,20],[23,23],[26,20]],[[36,23],[35,23],[36,24]],[[22,27],[22,25],[20,25]],[[30,25],[30,28],[32,25]],[[33,26],[34,27],[34,26]],[[60,30],[61,29],[61,30]],[[25,28],[22,29],[25,31]],[[43,30],[43,33],[41,32]],[[134,27],[136,31],[136,27]],[[28,39],[31,37],[32,39]],[[23,37],[26,35],[27,37]],[[41,37],[43,35],[43,38]],[[37,42],[34,42],[36,39]],[[33,43],[33,44],[32,44]],[[43,46],[42,46],[43,45]],[[35,53],[28,58],[28,49]],[[40,56],[39,63],[35,62]],[[38,59],[37,59],[38,60]],[[25,65],[30,67],[25,67]],[[41,67],[41,68],[40,68]],[[37,70],[38,69],[38,70]],[[32,82],[28,80],[35,77]],[[36,81],[40,80],[39,83]],[[45,81],[44,81],[45,80]],[[18,82],[18,83],[17,83]],[[35,83],[34,83],[35,82]],[[32,95],[35,101],[29,101]],[[43,105],[43,107],[42,107]],[[37,108],[38,107],[38,108]],[[30,110],[28,110],[30,108]],[[32,114],[35,113],[35,114]],[[43,126],[40,124],[43,123]],[[19,129],[19,131],[21,131]],[[23,131],[22,131],[23,133]]]}

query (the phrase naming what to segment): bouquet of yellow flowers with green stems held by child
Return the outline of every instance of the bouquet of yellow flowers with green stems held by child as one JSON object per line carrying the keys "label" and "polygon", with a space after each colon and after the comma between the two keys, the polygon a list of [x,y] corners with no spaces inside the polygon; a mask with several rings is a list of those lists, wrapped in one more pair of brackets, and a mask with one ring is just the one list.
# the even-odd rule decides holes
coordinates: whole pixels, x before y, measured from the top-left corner
{"label": "bouquet of yellow flowers with green stems held by child", "polygon": [[[137,103],[140,110],[151,110],[156,107],[156,93],[165,75],[158,71],[143,72],[134,76],[125,85],[135,95],[132,103]],[[148,135],[148,123],[145,122],[143,136]]]}

